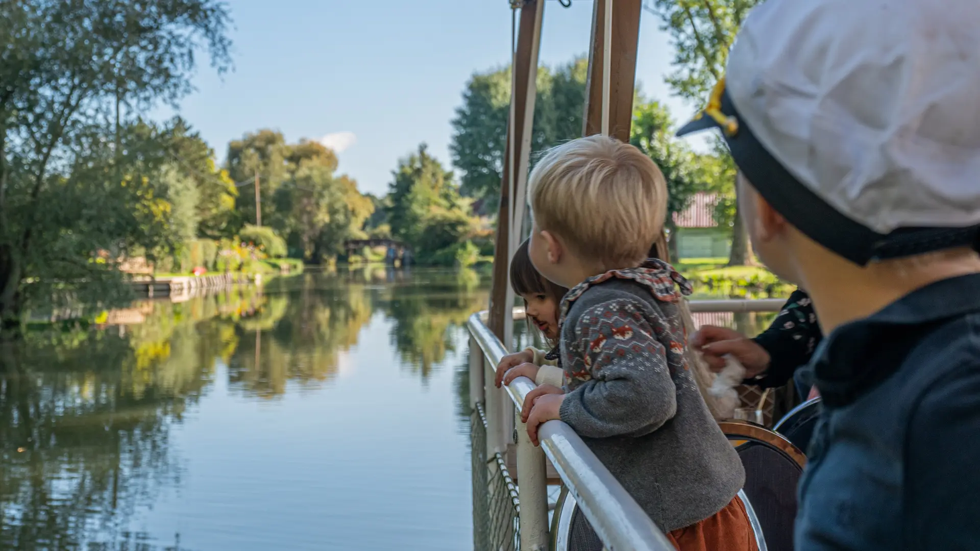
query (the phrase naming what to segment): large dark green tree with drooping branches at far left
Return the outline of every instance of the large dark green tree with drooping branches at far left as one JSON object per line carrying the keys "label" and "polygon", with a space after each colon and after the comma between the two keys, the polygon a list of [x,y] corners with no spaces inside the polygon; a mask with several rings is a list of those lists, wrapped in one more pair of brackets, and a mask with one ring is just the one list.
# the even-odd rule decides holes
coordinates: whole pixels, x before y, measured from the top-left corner
{"label": "large dark green tree with drooping branches at far left", "polygon": [[[96,246],[139,240],[106,220],[118,188],[145,207],[128,219],[163,217],[152,184],[123,170],[134,161],[123,123],[187,93],[201,49],[227,68],[229,41],[226,8],[215,0],[21,0],[3,12],[0,319],[11,324],[24,308],[25,281],[112,275],[92,270]],[[55,266],[71,269],[51,272]]]}

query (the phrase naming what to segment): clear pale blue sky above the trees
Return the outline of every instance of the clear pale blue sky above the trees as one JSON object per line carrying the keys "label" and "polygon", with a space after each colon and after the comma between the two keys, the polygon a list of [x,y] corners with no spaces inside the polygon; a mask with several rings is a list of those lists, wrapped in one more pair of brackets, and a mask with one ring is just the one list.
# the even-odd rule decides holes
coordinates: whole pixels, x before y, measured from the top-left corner
{"label": "clear pale blue sky above the trees", "polygon": [[[228,6],[234,71],[219,76],[202,64],[180,115],[221,160],[229,140],[258,128],[278,129],[289,141],[333,134],[332,143],[347,145],[340,171],[375,194],[385,192],[398,159],[420,142],[449,166],[450,120],[466,79],[509,61],[507,0],[231,0]],[[591,1],[564,8],[547,0],[541,63],[560,65],[584,54],[591,18]],[[663,84],[671,57],[657,18],[644,12],[637,78],[680,119],[692,107],[671,98]]]}

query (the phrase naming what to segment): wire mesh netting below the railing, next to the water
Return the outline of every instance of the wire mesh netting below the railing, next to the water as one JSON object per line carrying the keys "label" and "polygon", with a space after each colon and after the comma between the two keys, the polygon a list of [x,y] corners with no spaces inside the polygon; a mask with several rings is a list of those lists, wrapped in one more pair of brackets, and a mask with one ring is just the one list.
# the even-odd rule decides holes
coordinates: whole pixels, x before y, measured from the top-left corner
{"label": "wire mesh netting below the railing, next to the water", "polygon": [[477,404],[469,416],[470,458],[473,480],[473,549],[517,551],[520,526],[517,486],[495,453],[487,457],[486,417]]}

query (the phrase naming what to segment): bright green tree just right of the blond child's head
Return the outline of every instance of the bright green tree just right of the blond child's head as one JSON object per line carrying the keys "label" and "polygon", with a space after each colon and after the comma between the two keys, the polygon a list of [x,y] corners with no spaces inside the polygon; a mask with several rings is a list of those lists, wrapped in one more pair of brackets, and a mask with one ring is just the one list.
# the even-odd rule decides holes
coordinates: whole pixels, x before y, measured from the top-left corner
{"label": "bright green tree just right of the blond child's head", "polygon": [[[667,216],[665,225],[671,237],[677,227],[673,215],[690,204],[694,194],[701,191],[703,174],[698,170],[699,156],[684,142],[673,137],[673,122],[667,109],[656,101],[641,101],[633,108],[630,143],[646,153],[660,167],[667,183]],[[677,239],[668,241],[671,260],[677,259]]]}

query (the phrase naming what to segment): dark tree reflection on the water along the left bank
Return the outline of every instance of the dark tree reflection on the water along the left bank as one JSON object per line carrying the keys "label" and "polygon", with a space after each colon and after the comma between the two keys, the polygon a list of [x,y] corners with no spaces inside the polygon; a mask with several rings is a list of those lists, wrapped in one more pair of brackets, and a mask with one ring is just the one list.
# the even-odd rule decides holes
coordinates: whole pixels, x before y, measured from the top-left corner
{"label": "dark tree reflection on the water along the left bank", "polygon": [[[98,548],[178,476],[170,427],[252,309],[240,293],[152,302],[137,326],[27,333],[0,349],[0,548]],[[148,306],[148,307],[147,307]]]}

